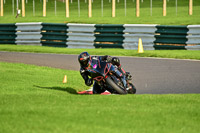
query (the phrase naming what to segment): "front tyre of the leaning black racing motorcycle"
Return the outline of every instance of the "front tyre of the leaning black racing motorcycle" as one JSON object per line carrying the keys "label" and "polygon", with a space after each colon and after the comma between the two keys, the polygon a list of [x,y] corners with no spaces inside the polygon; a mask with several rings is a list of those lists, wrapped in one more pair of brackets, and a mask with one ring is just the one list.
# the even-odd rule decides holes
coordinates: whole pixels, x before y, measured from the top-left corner
{"label": "front tyre of the leaning black racing motorcycle", "polygon": [[114,89],[118,94],[127,94],[127,92],[125,90],[121,89],[110,77],[106,78],[106,83],[112,89]]}

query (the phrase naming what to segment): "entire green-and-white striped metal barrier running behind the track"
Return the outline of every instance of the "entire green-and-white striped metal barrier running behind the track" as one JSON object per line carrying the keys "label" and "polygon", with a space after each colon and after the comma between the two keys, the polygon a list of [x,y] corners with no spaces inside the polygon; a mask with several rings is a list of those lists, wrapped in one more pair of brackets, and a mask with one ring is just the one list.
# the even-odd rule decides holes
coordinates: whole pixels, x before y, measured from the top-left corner
{"label": "entire green-and-white striped metal barrier running behind the track", "polygon": [[0,24],[0,44],[137,49],[139,38],[145,50],[200,50],[200,25]]}

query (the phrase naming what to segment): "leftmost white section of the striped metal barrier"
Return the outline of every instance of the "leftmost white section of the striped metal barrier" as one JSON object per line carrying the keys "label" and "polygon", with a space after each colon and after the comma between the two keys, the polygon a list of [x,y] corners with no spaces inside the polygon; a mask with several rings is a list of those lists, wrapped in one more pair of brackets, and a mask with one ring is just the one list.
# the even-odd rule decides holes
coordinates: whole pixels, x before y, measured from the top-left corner
{"label": "leftmost white section of the striped metal barrier", "polygon": [[17,45],[41,45],[41,23],[16,23]]}

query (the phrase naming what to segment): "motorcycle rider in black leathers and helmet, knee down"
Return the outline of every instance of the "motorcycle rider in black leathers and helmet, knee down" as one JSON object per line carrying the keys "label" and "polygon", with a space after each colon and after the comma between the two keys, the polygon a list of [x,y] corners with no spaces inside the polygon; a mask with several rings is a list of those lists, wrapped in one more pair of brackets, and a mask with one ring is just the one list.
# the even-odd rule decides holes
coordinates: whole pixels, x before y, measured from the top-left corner
{"label": "motorcycle rider in black leathers and helmet, knee down", "polygon": [[[82,52],[79,56],[78,56],[78,61],[80,63],[80,74],[82,76],[82,78],[85,80],[85,84],[87,86],[91,86],[93,84],[93,79],[89,78],[90,73],[87,71],[88,67],[89,67],[89,63],[92,60],[97,60],[98,56],[90,56],[88,52]],[[112,63],[113,65],[118,67],[118,70],[126,75],[128,80],[131,80],[131,75],[129,72],[125,72],[124,69],[121,67],[120,64],[120,60],[117,57],[111,57],[111,56],[101,56],[101,60],[102,61],[106,61],[109,63]],[[101,94],[104,91],[106,91],[104,88],[100,87],[96,82],[93,85],[93,94]]]}

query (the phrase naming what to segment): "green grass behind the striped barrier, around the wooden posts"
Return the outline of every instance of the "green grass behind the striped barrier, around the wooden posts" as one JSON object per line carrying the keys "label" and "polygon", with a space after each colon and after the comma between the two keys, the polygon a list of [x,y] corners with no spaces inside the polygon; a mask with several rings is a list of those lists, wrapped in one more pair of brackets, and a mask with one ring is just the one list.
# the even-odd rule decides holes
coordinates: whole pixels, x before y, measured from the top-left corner
{"label": "green grass behind the striped barrier, around the wooden posts", "polygon": [[[152,16],[150,13],[150,0],[140,3],[140,17],[136,17],[136,3],[127,0],[125,16],[124,0],[116,3],[116,17],[111,17],[111,3],[104,0],[104,12],[101,12],[101,0],[93,2],[93,17],[88,18],[88,3],[80,0],[80,16],[78,14],[78,2],[70,3],[70,17],[65,17],[65,3],[57,0],[57,14],[55,15],[54,0],[47,3],[47,16],[42,17],[42,2],[36,1],[36,13],[33,16],[32,1],[26,4],[26,17],[15,18],[12,13],[12,1],[6,1],[4,5],[4,16],[0,17],[0,23],[17,22],[51,22],[51,23],[95,23],[95,24],[163,24],[163,25],[188,25],[200,24],[200,0],[193,0],[193,15],[188,15],[189,0],[178,1],[176,14],[175,0],[167,2],[167,16],[162,16],[162,0],[153,0]],[[116,0],[117,1],[117,0]],[[19,5],[21,8],[21,4]],[[16,11],[15,11],[16,12]]]}

